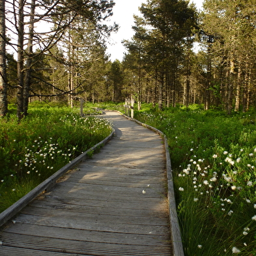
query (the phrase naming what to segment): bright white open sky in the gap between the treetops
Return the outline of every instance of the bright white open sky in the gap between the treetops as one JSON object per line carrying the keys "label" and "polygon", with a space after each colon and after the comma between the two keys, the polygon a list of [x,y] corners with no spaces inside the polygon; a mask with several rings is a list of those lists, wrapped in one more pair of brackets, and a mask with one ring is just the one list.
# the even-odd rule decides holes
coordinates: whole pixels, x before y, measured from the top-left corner
{"label": "bright white open sky in the gap between the treetops", "polygon": [[[197,9],[202,9],[203,0],[191,0],[195,3]],[[122,46],[122,40],[131,39],[134,35],[132,26],[134,25],[134,14],[139,15],[138,10],[142,3],[147,3],[147,0],[115,0],[113,7],[113,16],[110,23],[114,21],[119,24],[119,31],[112,33],[107,44],[107,53],[111,54],[110,60],[113,62],[116,59],[122,61],[125,48]]]}

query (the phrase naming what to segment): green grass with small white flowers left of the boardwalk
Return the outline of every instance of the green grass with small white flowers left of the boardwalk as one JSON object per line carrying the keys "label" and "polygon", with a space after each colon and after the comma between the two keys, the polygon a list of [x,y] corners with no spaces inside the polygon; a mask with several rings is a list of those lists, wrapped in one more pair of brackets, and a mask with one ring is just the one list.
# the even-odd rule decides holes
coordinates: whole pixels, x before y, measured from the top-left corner
{"label": "green grass with small white flowers left of the boardwalk", "polygon": [[78,108],[35,103],[19,123],[14,112],[0,119],[0,212],[111,132]]}

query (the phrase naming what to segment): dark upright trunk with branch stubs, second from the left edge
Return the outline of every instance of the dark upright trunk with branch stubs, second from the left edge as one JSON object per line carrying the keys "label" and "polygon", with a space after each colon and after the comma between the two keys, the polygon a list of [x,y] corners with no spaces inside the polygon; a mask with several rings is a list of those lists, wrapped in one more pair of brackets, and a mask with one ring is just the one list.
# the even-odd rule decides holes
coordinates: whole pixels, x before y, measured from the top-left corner
{"label": "dark upright trunk with branch stubs, second from the left edge", "polygon": [[17,59],[17,117],[19,120],[23,117],[23,85],[24,85],[24,60],[23,60],[23,43],[24,43],[24,3],[19,0],[19,14],[18,14],[18,59]]}

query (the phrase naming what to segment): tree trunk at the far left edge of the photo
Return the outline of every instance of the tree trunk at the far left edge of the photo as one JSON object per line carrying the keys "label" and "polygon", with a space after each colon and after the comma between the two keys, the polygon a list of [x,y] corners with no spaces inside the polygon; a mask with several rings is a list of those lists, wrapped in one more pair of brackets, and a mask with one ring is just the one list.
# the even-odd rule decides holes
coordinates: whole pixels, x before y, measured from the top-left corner
{"label": "tree trunk at the far left edge of the photo", "polygon": [[8,112],[7,71],[5,55],[5,1],[0,1],[0,116]]}

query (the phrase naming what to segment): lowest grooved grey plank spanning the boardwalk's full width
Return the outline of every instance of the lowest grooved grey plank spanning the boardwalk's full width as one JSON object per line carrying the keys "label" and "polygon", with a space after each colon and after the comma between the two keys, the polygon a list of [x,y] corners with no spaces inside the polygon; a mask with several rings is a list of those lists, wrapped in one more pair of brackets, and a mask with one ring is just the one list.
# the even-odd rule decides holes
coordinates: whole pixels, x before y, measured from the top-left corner
{"label": "lowest grooved grey plank spanning the boardwalk's full width", "polygon": [[3,242],[4,246],[13,246],[16,248],[35,249],[40,251],[55,251],[57,253],[77,253],[79,255],[168,255],[170,248],[151,244],[126,245],[94,243],[79,240],[63,240],[59,238],[45,238],[40,236],[7,234],[7,240]]}

